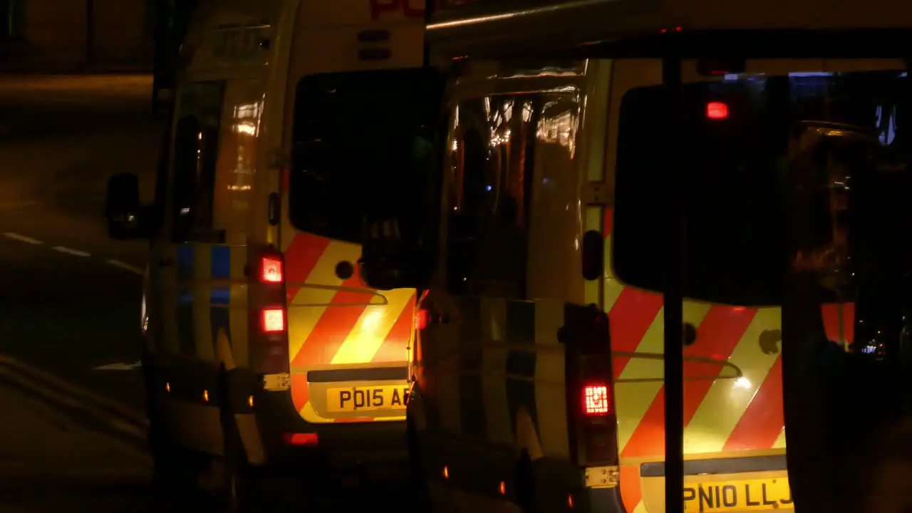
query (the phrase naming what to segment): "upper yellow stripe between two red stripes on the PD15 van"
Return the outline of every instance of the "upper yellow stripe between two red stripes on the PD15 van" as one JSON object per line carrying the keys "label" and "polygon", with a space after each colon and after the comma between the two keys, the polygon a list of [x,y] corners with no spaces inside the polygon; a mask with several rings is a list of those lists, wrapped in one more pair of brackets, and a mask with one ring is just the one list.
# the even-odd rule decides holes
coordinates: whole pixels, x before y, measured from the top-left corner
{"label": "upper yellow stripe between two red stripes on the PD15 van", "polygon": [[[345,260],[352,262],[360,256],[360,247],[330,242],[326,251],[316,261],[316,266],[295,295],[291,308],[288,309],[288,354],[294,361],[298,351],[311,331],[316,327],[316,322],[326,312],[326,305],[336,296],[337,287],[342,285],[342,280],[336,276],[336,265]],[[319,287],[314,287],[318,285]],[[294,284],[292,284],[294,286]]]}

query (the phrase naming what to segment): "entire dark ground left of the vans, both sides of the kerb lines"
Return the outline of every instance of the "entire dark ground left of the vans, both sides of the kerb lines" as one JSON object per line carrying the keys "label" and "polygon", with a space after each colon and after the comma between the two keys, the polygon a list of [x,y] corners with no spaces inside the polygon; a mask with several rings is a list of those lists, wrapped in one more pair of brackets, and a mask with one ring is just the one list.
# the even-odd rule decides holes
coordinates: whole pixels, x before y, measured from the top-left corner
{"label": "entire dark ground left of the vans, both sides of the kerb lines", "polygon": [[[148,82],[0,78],[2,511],[151,508],[142,430],[123,420],[141,419],[140,372],[95,370],[139,359],[130,267],[143,266],[145,243],[107,239],[101,198],[121,171],[150,190],[161,126]],[[123,406],[99,410],[77,389]]]}

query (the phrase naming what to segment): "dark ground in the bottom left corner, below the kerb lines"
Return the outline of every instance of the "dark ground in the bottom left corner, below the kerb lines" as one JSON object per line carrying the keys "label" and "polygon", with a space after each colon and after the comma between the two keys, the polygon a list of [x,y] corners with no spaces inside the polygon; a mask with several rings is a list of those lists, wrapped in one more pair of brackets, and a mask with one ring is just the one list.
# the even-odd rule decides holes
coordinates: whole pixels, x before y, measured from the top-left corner
{"label": "dark ground in the bottom left corner, below the kerb lines", "polygon": [[[150,463],[0,371],[0,510],[146,511]],[[25,388],[25,390],[24,390]]]}

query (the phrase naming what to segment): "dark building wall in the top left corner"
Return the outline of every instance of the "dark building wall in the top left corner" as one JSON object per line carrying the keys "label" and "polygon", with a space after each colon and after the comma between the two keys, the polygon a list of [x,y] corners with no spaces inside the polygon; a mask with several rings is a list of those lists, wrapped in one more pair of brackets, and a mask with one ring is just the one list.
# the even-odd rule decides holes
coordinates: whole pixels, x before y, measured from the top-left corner
{"label": "dark building wall in the top left corner", "polygon": [[156,0],[0,0],[0,72],[150,70]]}

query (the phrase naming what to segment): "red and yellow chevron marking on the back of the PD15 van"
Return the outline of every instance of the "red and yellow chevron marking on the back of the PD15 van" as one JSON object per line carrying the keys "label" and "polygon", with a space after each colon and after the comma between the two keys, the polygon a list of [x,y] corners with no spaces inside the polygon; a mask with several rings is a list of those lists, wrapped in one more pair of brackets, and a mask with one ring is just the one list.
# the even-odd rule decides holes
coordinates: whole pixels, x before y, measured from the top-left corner
{"label": "red and yellow chevron marking on the back of the PD15 van", "polygon": [[[288,353],[293,368],[408,360],[415,315],[415,290],[382,293],[365,287],[355,275],[342,280],[339,262],[356,262],[360,246],[295,232],[285,247],[288,295]],[[311,423],[368,422],[372,418],[335,420],[316,413],[309,401],[306,373],[292,373],[298,412]]]}

